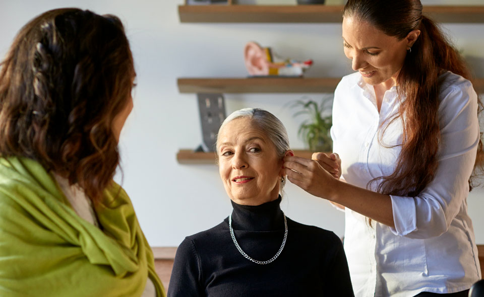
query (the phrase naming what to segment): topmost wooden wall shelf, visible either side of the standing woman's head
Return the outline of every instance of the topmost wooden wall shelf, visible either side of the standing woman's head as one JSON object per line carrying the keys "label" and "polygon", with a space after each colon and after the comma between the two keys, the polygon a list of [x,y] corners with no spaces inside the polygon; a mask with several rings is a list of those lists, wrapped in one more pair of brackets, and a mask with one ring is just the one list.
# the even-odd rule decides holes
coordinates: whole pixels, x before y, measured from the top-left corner
{"label": "topmost wooden wall shelf, visible either side of the standing woman's head", "polygon": [[[341,23],[342,6],[206,5],[178,6],[181,23]],[[484,23],[484,6],[424,6],[441,23]]]}

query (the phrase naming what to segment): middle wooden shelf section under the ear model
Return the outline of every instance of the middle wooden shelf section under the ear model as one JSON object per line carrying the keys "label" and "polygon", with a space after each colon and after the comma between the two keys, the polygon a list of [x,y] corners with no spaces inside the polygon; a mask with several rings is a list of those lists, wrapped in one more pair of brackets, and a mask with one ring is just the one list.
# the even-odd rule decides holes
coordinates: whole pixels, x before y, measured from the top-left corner
{"label": "middle wooden shelf section under the ear model", "polygon": [[180,78],[180,93],[332,93],[341,78]]}

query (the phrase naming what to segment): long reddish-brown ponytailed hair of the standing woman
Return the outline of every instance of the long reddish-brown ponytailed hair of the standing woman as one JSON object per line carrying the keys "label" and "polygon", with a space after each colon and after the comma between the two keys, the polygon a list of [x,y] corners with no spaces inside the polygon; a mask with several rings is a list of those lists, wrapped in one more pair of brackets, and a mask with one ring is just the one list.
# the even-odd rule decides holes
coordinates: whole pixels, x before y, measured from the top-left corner
{"label": "long reddish-brown ponytailed hair of the standing woman", "polygon": [[[450,70],[471,81],[470,71],[438,26],[422,15],[419,0],[348,0],[343,17],[365,21],[400,40],[410,31],[420,30],[397,78],[399,97],[405,100],[401,101],[398,116],[389,122],[400,119],[403,123],[401,153],[393,174],[369,183],[382,180],[378,191],[384,194],[416,196],[434,179],[438,167],[438,78]],[[478,155],[479,152],[482,152],[482,141],[479,141]],[[470,188],[471,182],[472,178]]]}

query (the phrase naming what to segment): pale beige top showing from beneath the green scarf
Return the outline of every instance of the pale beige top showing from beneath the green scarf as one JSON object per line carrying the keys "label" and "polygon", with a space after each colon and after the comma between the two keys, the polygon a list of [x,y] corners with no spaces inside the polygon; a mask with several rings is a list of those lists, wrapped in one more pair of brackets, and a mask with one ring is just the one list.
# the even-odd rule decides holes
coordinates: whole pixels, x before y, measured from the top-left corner
{"label": "pale beige top showing from beneath the green scarf", "polygon": [[[91,224],[99,227],[99,222],[97,221],[96,213],[92,207],[91,199],[87,197],[84,190],[78,184],[70,185],[67,178],[61,177],[55,173],[53,176],[76,213]],[[155,285],[149,277],[146,280],[145,290],[141,297],[156,297]]]}

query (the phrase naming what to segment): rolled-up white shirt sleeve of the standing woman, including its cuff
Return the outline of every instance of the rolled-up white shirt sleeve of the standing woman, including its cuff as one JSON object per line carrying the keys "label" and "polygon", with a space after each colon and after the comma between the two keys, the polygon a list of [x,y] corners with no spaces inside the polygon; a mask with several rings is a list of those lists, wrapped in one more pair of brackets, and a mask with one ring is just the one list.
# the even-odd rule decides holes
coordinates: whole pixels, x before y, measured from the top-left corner
{"label": "rolled-up white shirt sleeve of the standing woman, including its cuff", "polygon": [[446,89],[439,107],[441,139],[434,180],[416,197],[391,195],[395,235],[431,238],[446,232],[469,193],[479,143],[477,95],[461,80]]}

